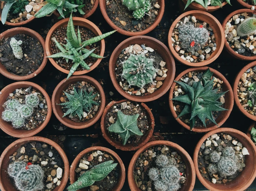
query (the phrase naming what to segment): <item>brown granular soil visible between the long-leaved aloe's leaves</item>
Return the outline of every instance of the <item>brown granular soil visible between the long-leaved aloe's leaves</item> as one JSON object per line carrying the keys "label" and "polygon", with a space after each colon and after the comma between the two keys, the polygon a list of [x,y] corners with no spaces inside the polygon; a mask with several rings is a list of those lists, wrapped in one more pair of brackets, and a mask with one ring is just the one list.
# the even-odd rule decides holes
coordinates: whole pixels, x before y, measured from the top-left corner
{"label": "brown granular soil visible between the long-leaved aloe's leaves", "polygon": [[[77,26],[75,26],[75,31],[76,31],[76,34],[77,34]],[[90,31],[89,29],[87,28],[82,28],[82,27],[79,27],[79,31],[80,31],[80,34],[81,34],[81,39],[82,39],[82,42],[83,41],[86,41],[86,40],[89,40],[93,37],[95,37],[95,34]],[[57,29],[56,31],[53,32],[52,34],[52,42],[51,42],[51,51],[52,51],[52,54],[56,54],[56,53],[59,53],[61,52],[58,47],[55,46],[55,42],[53,40],[53,38],[56,38],[56,40],[59,42],[59,43],[63,43],[63,44],[66,44],[67,41],[65,41],[65,38],[66,38],[66,32],[67,32],[67,27],[61,27],[60,29]],[[93,43],[93,44],[90,44],[88,46],[85,47],[86,49],[88,50],[91,50],[91,49],[94,49],[94,48],[97,48],[94,53],[95,54],[98,54],[100,53],[100,49],[99,49],[99,43],[96,42],[96,43]],[[65,59],[63,58],[54,58],[55,62],[58,63],[58,65],[62,68],[64,68],[65,70],[70,70],[71,67],[73,66],[74,62],[72,62],[72,60],[69,60],[69,62],[67,63]],[[93,57],[88,57],[87,59],[84,60],[87,65],[90,67],[92,66],[96,61],[97,61],[97,58],[93,58]],[[76,71],[82,71],[82,70],[85,70],[84,68],[82,68],[80,65],[78,66],[77,70]]]}

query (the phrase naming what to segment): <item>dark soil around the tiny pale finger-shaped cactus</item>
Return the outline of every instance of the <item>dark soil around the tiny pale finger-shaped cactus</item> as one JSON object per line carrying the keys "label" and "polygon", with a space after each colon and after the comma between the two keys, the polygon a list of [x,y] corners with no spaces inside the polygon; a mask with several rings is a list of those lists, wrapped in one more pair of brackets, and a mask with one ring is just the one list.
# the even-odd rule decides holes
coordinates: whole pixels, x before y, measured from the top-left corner
{"label": "dark soil around the tiny pale finger-shaped cactus", "polygon": [[44,50],[38,40],[27,34],[16,34],[12,38],[17,41],[22,40],[20,45],[24,57],[22,59],[15,58],[10,46],[11,38],[0,40],[0,61],[6,67],[8,72],[18,76],[27,76],[35,72],[44,59]]}

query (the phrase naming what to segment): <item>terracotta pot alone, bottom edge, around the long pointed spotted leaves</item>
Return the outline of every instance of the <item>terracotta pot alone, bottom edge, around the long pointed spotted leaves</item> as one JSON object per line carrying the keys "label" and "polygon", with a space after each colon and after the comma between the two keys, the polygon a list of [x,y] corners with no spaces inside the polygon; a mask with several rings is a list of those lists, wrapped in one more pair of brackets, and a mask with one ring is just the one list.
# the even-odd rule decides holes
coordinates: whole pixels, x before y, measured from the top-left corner
{"label": "terracotta pot alone, bottom edge, around the long pointed spotted leaves", "polygon": [[[82,159],[82,157],[85,154],[87,154],[88,152],[97,151],[97,150],[105,151],[105,152],[111,154],[117,160],[118,165],[120,167],[119,179],[118,179],[118,182],[115,185],[115,187],[112,189],[112,191],[120,191],[124,185],[124,180],[125,180],[124,163],[121,160],[121,158],[118,156],[118,154],[116,154],[114,151],[112,151],[106,147],[89,147],[89,148],[83,150],[82,152],[80,152],[70,166],[70,172],[69,172],[70,173],[70,175],[69,175],[70,183],[73,184],[74,182],[77,181],[75,169],[78,167],[78,165],[80,163],[80,159]],[[83,188],[83,189],[79,189],[78,191],[86,191],[86,189]]]}

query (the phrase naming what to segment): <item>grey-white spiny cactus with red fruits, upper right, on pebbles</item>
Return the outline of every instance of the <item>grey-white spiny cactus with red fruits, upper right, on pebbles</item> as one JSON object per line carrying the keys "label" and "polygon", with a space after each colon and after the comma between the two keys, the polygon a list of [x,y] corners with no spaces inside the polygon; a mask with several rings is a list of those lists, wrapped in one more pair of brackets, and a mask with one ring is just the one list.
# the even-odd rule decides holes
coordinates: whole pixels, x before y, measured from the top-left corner
{"label": "grey-white spiny cactus with red fruits, upper right, on pebbles", "polygon": [[208,41],[209,32],[206,28],[194,27],[192,22],[180,24],[179,40],[180,47],[194,54],[200,50]]}

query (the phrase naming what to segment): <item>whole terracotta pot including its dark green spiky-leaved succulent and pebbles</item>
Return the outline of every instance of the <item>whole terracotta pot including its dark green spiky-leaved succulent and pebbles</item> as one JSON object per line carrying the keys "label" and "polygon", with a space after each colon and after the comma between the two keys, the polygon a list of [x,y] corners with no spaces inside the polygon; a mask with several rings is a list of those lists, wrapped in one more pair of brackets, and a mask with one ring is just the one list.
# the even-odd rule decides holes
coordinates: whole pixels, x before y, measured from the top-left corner
{"label": "whole terracotta pot including its dark green spiky-leaved succulent and pebbles", "polygon": [[194,132],[206,132],[220,127],[228,119],[233,102],[232,89],[227,79],[209,67],[190,68],[180,73],[169,94],[174,118],[180,125]]}

